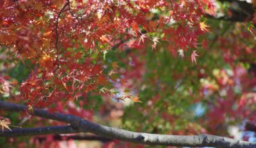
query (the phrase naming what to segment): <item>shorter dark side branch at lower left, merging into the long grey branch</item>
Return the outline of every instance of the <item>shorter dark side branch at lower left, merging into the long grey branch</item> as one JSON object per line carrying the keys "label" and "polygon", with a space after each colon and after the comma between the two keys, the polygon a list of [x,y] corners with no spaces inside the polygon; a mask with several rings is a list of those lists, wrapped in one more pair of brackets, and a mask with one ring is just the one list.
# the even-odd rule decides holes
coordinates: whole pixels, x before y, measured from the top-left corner
{"label": "shorter dark side branch at lower left, merging into the long grey branch", "polygon": [[17,137],[32,135],[49,135],[49,134],[70,134],[79,133],[72,126],[45,126],[38,128],[14,128],[11,131],[5,130],[0,133],[0,137]]}

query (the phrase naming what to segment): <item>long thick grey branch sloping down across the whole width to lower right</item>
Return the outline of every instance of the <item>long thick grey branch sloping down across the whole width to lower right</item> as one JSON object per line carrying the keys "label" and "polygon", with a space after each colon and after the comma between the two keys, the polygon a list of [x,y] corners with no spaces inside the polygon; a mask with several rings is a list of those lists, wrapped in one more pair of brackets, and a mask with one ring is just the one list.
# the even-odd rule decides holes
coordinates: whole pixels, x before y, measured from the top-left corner
{"label": "long thick grey branch sloping down across the whole width to lower right", "polygon": [[[20,112],[22,110],[26,110],[27,107],[24,105],[0,101],[0,109]],[[129,141],[143,145],[170,145],[181,147],[256,147],[256,143],[238,141],[227,137],[218,137],[214,135],[179,136],[135,133],[109,126],[102,126],[77,116],[61,113],[50,113],[46,110],[41,110],[38,108],[34,108],[34,112],[32,112],[32,114],[42,118],[67,122],[71,124],[76,132],[89,132],[110,139],[119,139],[121,141]],[[9,131],[9,133],[11,133],[11,131]],[[0,137],[3,137],[3,135],[0,135]]]}

